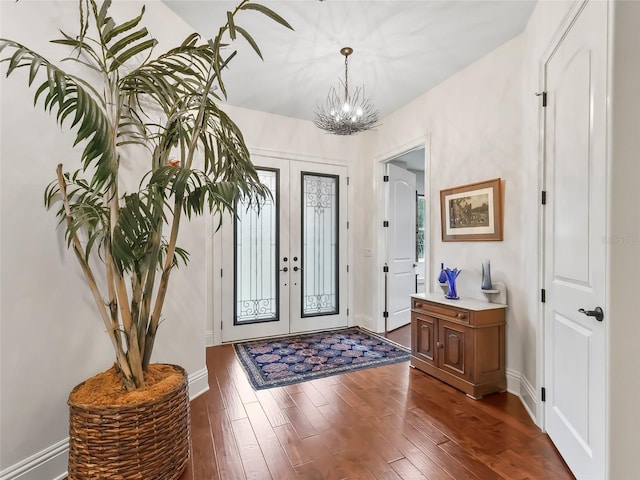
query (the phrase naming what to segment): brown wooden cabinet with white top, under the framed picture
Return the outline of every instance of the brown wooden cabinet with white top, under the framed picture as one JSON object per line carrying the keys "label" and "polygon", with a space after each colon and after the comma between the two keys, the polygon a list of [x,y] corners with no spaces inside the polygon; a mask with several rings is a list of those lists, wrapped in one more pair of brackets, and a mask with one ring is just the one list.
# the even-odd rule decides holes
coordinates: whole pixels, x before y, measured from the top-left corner
{"label": "brown wooden cabinet with white top, under the framed picture", "polygon": [[414,295],[411,366],[472,398],[506,390],[505,308],[479,300]]}

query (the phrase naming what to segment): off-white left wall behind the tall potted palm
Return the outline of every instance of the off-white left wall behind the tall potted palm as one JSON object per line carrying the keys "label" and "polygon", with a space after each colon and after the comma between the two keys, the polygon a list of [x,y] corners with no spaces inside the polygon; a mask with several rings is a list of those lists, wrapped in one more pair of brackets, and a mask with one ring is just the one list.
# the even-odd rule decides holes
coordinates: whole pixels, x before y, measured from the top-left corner
{"label": "off-white left wall behind the tall potted palm", "polygon": [[[147,25],[173,46],[189,33],[161,3],[147,2]],[[141,3],[118,3],[121,20],[139,13]],[[2,2],[2,36],[22,41],[56,59],[66,53],[48,43],[62,27],[76,33],[77,2]],[[166,28],[167,20],[172,28]],[[162,28],[153,28],[154,25]],[[165,44],[166,44],[165,43]],[[67,396],[74,385],[109,368],[111,346],[73,254],[66,249],[43,191],[55,178],[57,163],[78,168],[73,137],[33,107],[33,91],[21,72],[4,79],[0,175],[0,470],[13,469],[32,455],[52,454],[68,436]],[[192,266],[175,271],[166,300],[153,361],[182,365],[190,374],[206,369],[204,356],[204,220],[186,226],[181,246]],[[194,268],[195,267],[195,268]],[[206,376],[204,377],[206,381]],[[206,388],[206,385],[205,385]],[[53,478],[66,468],[63,446],[31,478]],[[45,451],[45,452],[43,452]],[[60,452],[60,449],[56,450]],[[29,462],[24,466],[28,467]],[[60,470],[62,468],[63,470]],[[11,469],[9,471],[8,469]],[[12,473],[13,472],[13,473]],[[35,476],[34,476],[35,475]],[[29,477],[27,477],[29,478]]]}

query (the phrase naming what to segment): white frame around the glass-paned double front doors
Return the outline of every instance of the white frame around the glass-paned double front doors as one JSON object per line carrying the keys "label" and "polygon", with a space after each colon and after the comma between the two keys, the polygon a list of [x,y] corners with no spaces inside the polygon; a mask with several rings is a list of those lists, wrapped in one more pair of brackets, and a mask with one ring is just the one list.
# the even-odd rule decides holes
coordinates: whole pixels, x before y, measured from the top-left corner
{"label": "white frame around the glass-paned double front doors", "polygon": [[[351,164],[342,159],[335,158],[322,158],[312,155],[298,155],[289,152],[281,152],[263,148],[249,147],[249,153],[252,161],[257,157],[275,158],[284,161],[302,161],[309,164],[319,165],[333,165],[338,167],[346,167],[347,178],[351,175]],[[259,162],[258,162],[259,163]],[[353,205],[353,188],[350,185],[346,185],[347,189],[347,206],[346,206],[346,221],[351,219],[351,205]],[[216,345],[222,345],[222,302],[233,301],[222,298],[222,281],[223,277],[220,272],[222,270],[222,236],[220,231],[216,231],[218,226],[219,216],[208,215],[205,216],[205,230],[206,230],[206,327],[205,327],[205,346],[213,347]],[[352,230],[347,230],[347,264],[351,263],[353,258],[353,239]],[[227,277],[228,278],[228,277]],[[346,308],[349,312],[353,312],[353,275],[347,275],[347,294],[346,294]],[[352,326],[353,315],[347,315],[347,326]]]}

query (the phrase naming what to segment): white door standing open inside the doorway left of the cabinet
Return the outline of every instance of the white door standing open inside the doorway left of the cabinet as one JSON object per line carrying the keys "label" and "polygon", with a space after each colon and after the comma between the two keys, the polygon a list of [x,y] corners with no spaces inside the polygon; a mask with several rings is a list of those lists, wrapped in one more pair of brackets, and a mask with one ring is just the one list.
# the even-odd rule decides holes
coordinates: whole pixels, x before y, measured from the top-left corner
{"label": "white door standing open inside the doorway left of the cabinet", "polygon": [[389,199],[387,330],[411,322],[411,301],[416,293],[416,176],[387,164]]}

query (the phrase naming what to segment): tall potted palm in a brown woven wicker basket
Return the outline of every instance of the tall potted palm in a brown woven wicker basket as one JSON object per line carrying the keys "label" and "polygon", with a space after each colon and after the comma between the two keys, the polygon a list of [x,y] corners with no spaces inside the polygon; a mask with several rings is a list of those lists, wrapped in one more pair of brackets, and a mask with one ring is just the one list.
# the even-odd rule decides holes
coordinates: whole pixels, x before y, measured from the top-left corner
{"label": "tall potted palm in a brown woven wicker basket", "polygon": [[[115,352],[111,370],[69,397],[69,478],[174,479],[189,455],[186,375],[151,359],[171,272],[189,257],[178,246],[180,223],[269,194],[241,131],[219,106],[226,98],[221,74],[235,56],[227,42],[238,36],[262,57],[236,24],[240,12],[291,27],[242,0],[215,38],[192,34],[155,54],[144,7],[119,23],[110,0],[78,3],[78,35],[62,32],[53,43],[70,48],[67,60],[86,75],[0,39],[7,76],[24,71],[35,103],[82,145],[76,170],[58,165],[45,203],[57,206]],[[133,190],[125,188],[132,172],[140,172]]]}

